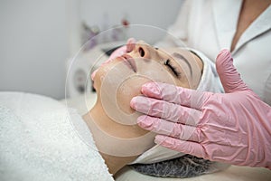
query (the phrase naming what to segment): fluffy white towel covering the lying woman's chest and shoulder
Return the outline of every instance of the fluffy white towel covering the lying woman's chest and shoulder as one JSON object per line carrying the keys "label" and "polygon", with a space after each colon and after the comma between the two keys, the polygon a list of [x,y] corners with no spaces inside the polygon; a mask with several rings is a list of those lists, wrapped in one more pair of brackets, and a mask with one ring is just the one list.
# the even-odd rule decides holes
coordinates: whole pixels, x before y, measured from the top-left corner
{"label": "fluffy white towel covering the lying woman's chest and shoulder", "polygon": [[114,180],[83,119],[57,100],[0,92],[0,143],[3,181]]}

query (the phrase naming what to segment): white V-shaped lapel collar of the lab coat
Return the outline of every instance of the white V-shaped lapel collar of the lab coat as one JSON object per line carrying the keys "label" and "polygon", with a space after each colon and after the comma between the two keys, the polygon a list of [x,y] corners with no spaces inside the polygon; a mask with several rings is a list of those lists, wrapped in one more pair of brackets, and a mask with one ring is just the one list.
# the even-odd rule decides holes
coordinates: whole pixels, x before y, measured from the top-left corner
{"label": "white V-shaped lapel collar of the lab coat", "polygon": [[[237,30],[241,5],[242,0],[213,1],[212,12],[217,29],[220,49],[230,49],[233,37]],[[240,49],[245,43],[248,43],[258,35],[270,30],[270,19],[271,5],[269,5],[266,10],[248,26],[248,29],[239,38],[235,50],[232,53],[238,52],[238,49]]]}

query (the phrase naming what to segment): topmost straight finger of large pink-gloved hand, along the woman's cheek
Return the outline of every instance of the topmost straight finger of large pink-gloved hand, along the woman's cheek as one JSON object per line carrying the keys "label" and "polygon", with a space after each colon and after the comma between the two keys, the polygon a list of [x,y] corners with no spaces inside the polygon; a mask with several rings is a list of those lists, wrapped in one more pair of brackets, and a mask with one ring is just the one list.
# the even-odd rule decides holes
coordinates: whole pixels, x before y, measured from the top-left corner
{"label": "topmost straight finger of large pink-gloved hand, along the woman's cheek", "polygon": [[145,83],[141,91],[147,97],[169,101],[198,110],[201,110],[202,104],[211,95],[210,92],[181,88],[161,82]]}

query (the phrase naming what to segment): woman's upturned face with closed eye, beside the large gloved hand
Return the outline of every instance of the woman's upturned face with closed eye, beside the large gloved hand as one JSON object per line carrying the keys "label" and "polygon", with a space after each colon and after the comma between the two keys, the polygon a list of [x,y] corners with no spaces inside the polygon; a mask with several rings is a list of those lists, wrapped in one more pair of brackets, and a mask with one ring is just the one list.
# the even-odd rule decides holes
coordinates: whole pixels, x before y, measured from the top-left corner
{"label": "woman's upturned face with closed eye, beside the large gloved hand", "polygon": [[[180,48],[157,49],[143,41],[130,44],[130,52],[101,66],[94,78],[98,100],[114,97],[117,107],[132,114],[130,100],[140,95],[148,81],[160,81],[196,89],[201,81],[202,62],[192,52]],[[114,105],[116,106],[116,105]]]}

